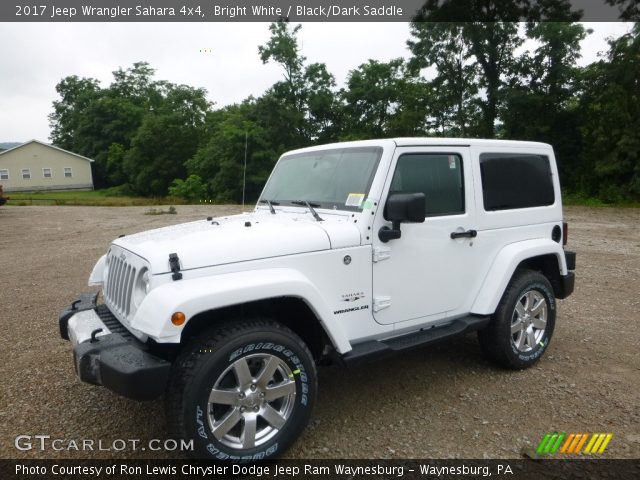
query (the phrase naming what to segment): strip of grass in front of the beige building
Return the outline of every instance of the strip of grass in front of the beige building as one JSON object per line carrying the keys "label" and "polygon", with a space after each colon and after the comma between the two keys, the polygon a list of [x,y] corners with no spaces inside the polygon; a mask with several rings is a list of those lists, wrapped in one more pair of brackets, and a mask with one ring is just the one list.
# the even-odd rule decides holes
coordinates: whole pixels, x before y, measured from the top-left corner
{"label": "strip of grass in front of the beige building", "polygon": [[73,205],[89,207],[131,207],[147,205],[180,205],[184,200],[174,197],[133,197],[121,195],[118,189],[91,191],[56,191],[56,192],[8,192],[11,197],[7,205]]}

